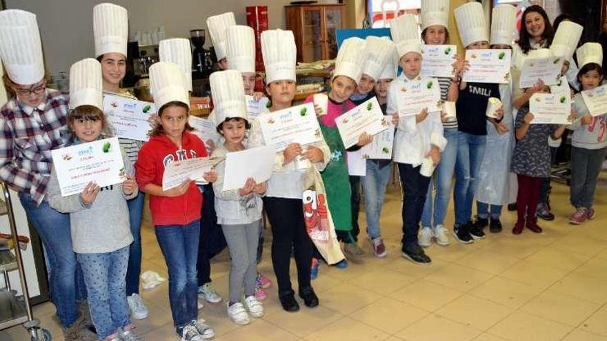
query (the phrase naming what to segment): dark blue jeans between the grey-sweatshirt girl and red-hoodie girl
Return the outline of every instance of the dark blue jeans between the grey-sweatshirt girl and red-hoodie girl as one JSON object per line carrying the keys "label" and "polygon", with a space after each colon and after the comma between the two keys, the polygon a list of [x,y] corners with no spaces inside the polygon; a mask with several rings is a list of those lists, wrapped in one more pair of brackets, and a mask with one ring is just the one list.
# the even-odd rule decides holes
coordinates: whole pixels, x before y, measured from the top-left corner
{"label": "dark blue jeans between the grey-sweatshirt girl and red-hoodie girl", "polygon": [[139,293],[139,276],[141,275],[141,214],[146,194],[139,192],[135,198],[128,200],[128,216],[133,242],[128,252],[128,268],[126,271],[126,296]]}

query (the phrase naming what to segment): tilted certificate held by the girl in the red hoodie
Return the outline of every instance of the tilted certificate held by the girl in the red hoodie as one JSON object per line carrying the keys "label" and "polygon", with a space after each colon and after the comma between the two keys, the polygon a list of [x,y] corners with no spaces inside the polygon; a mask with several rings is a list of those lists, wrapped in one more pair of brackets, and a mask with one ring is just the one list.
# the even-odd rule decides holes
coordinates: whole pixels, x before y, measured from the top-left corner
{"label": "tilted certificate held by the girl in the red hoodie", "polygon": [[185,180],[197,180],[202,178],[206,172],[217,165],[223,158],[188,158],[183,161],[175,161],[164,167],[162,174],[162,190],[177,187]]}

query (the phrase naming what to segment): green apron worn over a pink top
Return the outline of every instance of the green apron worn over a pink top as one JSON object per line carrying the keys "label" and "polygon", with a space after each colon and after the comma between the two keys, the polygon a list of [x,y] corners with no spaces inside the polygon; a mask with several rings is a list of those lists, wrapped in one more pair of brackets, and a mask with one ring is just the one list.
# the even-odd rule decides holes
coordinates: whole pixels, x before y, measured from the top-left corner
{"label": "green apron worn over a pink top", "polygon": [[352,230],[352,209],[350,208],[350,174],[348,174],[346,163],[346,148],[341,141],[337,127],[327,127],[320,120],[319,125],[331,152],[331,159],[321,172],[321,176],[325,184],[333,225],[337,231],[350,231]]}

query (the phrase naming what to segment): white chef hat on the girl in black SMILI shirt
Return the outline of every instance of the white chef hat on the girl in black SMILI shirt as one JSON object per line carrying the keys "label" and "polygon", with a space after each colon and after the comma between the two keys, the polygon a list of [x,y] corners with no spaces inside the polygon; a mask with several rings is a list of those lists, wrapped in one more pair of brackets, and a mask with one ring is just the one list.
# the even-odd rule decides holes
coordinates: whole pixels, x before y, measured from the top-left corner
{"label": "white chef hat on the girl in black SMILI shirt", "polygon": [[489,41],[483,6],[479,2],[464,3],[455,8],[457,30],[464,46],[476,41]]}

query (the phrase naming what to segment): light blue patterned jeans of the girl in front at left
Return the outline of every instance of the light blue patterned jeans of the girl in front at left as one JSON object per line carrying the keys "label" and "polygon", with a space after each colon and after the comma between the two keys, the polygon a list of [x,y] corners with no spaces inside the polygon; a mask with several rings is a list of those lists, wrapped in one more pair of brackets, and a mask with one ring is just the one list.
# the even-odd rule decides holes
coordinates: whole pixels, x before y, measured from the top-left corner
{"label": "light blue patterned jeans of the girl in front at left", "polygon": [[130,324],[126,303],[129,247],[105,254],[77,254],[88,291],[90,318],[99,338]]}

